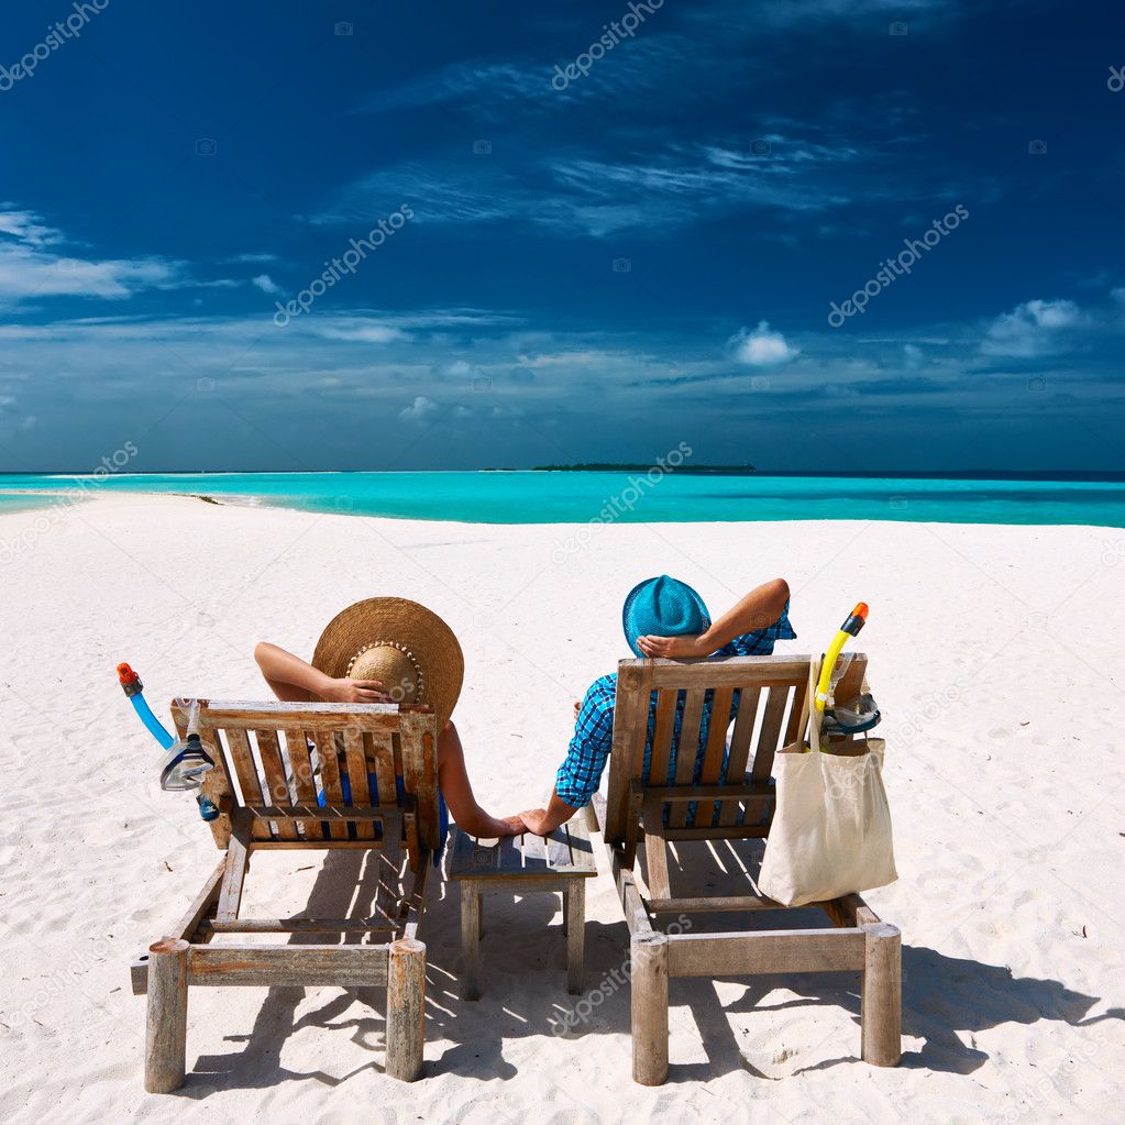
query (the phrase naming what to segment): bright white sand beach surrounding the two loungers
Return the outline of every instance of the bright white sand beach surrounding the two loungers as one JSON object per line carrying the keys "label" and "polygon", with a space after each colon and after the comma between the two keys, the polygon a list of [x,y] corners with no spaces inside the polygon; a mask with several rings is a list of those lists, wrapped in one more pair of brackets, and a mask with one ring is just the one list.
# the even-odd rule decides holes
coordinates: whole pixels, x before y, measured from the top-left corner
{"label": "bright white sand beach surrounding the two loungers", "polygon": [[[0,540],[36,514],[0,515]],[[4,1122],[782,1123],[1120,1120],[1125,1097],[1125,531],[801,522],[577,529],[317,515],[116,494],[63,512],[0,568]],[[559,561],[560,556],[565,559]],[[867,900],[902,930],[903,1059],[860,1061],[850,975],[674,981],[668,1082],[630,1078],[628,988],[566,1036],[552,900],[497,900],[484,996],[458,998],[456,888],[434,880],[425,1076],[382,1073],[381,991],[198,989],[188,1079],[142,1088],[128,966],[216,862],[188,794],[117,684],[266,698],[259,639],[308,656],[344,605],[400,594],[461,639],[456,720],[483,803],[549,791],[587,683],[628,655],[623,595],[670,573],[712,610],[784,576],[820,650],[864,598],[855,646],[884,714],[899,881]],[[586,984],[628,956],[604,849]],[[353,857],[261,857],[296,912],[348,907]],[[274,899],[277,901],[277,899]],[[551,922],[548,927],[548,922]]]}

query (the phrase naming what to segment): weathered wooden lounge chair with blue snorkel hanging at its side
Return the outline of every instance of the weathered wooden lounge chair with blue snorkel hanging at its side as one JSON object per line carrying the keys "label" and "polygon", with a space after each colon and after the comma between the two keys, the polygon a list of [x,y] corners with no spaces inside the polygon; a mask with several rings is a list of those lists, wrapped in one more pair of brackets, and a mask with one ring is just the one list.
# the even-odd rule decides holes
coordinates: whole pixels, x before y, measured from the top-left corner
{"label": "weathered wooden lounge chair with blue snorkel hanging at its side", "polygon": [[[181,738],[192,712],[216,764],[205,775],[204,793],[219,810],[210,830],[225,854],[179,924],[133,964],[133,991],[148,993],[145,1089],[168,1094],[182,1084],[188,991],[200,986],[386,987],[386,1070],[413,1081],[422,1069],[425,999],[425,945],[417,940],[417,928],[439,844],[432,710],[178,700],[172,716]],[[309,740],[316,747],[312,758]],[[378,781],[378,804],[371,801],[369,774]],[[402,778],[402,800],[396,799],[396,777]],[[317,803],[318,784],[324,806]],[[405,894],[404,843],[413,873]],[[374,853],[368,861],[368,870],[378,864],[372,914],[240,918],[251,857],[281,848]],[[333,934],[334,943],[353,944],[223,940],[252,934]]]}

